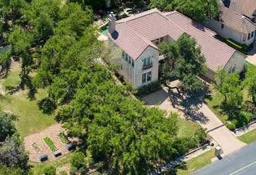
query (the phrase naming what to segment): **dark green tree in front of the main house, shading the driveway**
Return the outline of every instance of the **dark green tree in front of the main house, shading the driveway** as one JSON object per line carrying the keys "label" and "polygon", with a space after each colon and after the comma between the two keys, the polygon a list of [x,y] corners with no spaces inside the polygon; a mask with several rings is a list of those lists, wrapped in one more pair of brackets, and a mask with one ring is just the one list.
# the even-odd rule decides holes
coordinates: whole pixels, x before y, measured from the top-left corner
{"label": "dark green tree in front of the main house, shading the driveway", "polygon": [[196,47],[197,41],[188,34],[183,34],[175,43],[160,46],[164,48],[165,57],[172,58],[172,72],[169,75],[176,76],[180,86],[184,90],[199,89],[202,81],[199,75],[207,72],[205,57],[201,55],[201,47]]}

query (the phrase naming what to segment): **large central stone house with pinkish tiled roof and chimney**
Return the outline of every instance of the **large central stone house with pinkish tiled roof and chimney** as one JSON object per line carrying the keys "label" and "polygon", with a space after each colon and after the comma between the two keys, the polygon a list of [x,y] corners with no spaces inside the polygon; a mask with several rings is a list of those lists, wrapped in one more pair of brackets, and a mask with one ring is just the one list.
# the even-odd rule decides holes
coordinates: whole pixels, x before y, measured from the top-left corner
{"label": "large central stone house with pinkish tiled roof and chimney", "polygon": [[227,72],[243,70],[245,55],[215,39],[215,32],[177,11],[162,13],[158,9],[118,21],[113,13],[109,15],[108,40],[112,48],[120,50],[111,63],[120,65],[117,72],[136,89],[157,82],[158,67],[164,60],[158,45],[174,42],[184,33],[201,45],[208,80],[214,79],[218,66],[224,66]]}

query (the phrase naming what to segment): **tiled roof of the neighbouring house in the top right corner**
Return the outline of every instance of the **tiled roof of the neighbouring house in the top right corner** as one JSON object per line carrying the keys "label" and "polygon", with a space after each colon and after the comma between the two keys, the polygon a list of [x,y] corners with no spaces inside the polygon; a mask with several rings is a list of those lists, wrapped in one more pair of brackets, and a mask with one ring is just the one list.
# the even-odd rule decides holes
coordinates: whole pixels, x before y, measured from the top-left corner
{"label": "tiled roof of the neighbouring house in the top right corner", "polygon": [[[220,21],[241,33],[255,30],[255,23],[250,18],[256,10],[255,0],[226,0],[220,1]],[[245,17],[248,16],[249,18]]]}

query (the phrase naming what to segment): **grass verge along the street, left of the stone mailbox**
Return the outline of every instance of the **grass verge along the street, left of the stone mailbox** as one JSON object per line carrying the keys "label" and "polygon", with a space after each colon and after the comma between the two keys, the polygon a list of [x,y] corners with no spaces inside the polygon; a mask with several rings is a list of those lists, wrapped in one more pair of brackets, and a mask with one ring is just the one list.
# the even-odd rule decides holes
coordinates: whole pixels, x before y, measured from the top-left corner
{"label": "grass verge along the street, left of the stone mailbox", "polygon": [[211,159],[215,157],[214,155],[215,149],[211,149],[206,153],[203,153],[189,161],[186,161],[184,164],[177,166],[176,168],[172,168],[170,170],[170,174],[189,174],[195,170],[203,168],[207,164],[211,163]]}

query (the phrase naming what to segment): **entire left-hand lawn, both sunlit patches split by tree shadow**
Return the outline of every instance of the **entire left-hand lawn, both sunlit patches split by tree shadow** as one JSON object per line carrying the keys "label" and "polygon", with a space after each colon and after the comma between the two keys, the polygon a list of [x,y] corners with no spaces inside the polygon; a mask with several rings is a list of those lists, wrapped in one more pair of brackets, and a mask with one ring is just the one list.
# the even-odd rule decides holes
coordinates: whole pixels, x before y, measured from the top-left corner
{"label": "entire left-hand lawn, both sunlit patches split by tree shadow", "polygon": [[[20,82],[19,74],[20,67],[11,70],[5,80],[1,80],[3,89],[8,86],[18,86]],[[18,132],[21,136],[25,137],[30,134],[42,132],[49,126],[56,124],[54,114],[44,114],[38,109],[38,101],[48,97],[48,89],[38,89],[36,99],[30,100],[27,98],[28,90],[22,91],[21,89],[13,95],[6,95],[7,99],[1,100],[1,109],[6,112],[11,112],[18,116],[15,122]]]}

